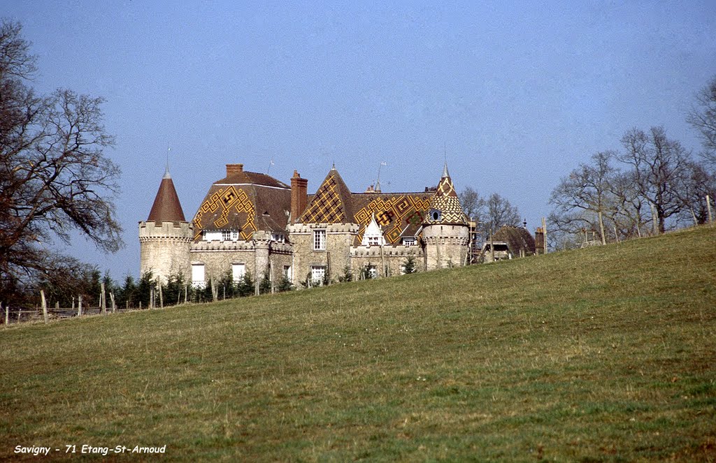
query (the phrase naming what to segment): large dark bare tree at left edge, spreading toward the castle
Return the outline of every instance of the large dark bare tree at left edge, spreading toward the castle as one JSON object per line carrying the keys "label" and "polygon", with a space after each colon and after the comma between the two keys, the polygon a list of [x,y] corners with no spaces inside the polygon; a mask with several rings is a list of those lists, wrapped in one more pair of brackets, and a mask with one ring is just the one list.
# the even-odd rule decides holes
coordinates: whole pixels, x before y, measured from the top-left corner
{"label": "large dark bare tree at left edge, spreading toward the castle", "polygon": [[19,24],[0,26],[0,296],[62,268],[48,245],[69,242],[72,230],[100,250],[122,245],[112,202],[120,170],[104,154],[114,140],[102,126],[102,99],[34,94],[26,85],[34,57],[20,33]]}

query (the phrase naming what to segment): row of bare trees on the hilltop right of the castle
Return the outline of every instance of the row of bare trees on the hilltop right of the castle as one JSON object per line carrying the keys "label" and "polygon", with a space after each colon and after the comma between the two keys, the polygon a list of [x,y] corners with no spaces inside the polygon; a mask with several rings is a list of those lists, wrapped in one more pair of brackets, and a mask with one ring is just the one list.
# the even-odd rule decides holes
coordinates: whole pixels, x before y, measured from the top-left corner
{"label": "row of bare trees on the hilltop right of the castle", "polygon": [[664,127],[634,128],[619,150],[596,152],[561,178],[549,198],[553,247],[574,247],[590,233],[606,244],[707,223],[716,196],[716,77],[697,94],[687,122],[702,141],[696,155]]}

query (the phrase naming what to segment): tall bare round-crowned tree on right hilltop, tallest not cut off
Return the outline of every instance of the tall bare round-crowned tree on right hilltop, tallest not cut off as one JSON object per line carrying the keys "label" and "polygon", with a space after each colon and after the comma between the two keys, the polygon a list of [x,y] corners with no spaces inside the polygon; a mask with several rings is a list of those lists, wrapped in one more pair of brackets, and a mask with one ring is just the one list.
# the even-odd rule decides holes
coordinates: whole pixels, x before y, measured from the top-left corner
{"label": "tall bare round-crowned tree on right hilltop, tallest not cut off", "polygon": [[663,127],[652,127],[648,133],[629,130],[621,144],[627,151],[619,160],[632,166],[634,184],[654,205],[659,233],[664,233],[664,221],[683,208],[679,187],[687,175],[690,155],[681,143],[667,138]]}

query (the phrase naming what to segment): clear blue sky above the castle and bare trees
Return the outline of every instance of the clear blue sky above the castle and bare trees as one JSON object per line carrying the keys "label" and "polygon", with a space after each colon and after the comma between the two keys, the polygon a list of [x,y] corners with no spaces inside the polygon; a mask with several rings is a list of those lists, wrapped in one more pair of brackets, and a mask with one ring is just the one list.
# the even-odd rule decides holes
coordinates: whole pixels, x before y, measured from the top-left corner
{"label": "clear blue sky above the castle and bare trees", "polygon": [[314,191],[498,192],[533,230],[560,177],[632,127],[684,122],[716,74],[711,1],[0,1],[39,59],[34,87],[105,97],[125,249],[68,251],[136,276],[137,221],[170,169],[193,217],[226,163]]}

